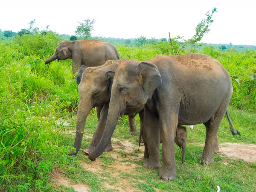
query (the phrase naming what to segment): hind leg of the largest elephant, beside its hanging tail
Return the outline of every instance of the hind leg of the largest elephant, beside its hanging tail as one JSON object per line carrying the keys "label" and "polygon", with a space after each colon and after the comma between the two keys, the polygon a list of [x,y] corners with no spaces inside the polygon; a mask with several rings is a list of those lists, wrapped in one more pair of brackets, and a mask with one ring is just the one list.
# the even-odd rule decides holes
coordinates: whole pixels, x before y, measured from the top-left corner
{"label": "hind leg of the largest elephant, beside its hanging tail", "polygon": [[213,153],[218,152],[217,132],[226,110],[227,108],[219,109],[208,122],[204,123],[204,125],[206,126],[206,138],[203,154],[201,157],[202,165],[210,165],[214,161]]}

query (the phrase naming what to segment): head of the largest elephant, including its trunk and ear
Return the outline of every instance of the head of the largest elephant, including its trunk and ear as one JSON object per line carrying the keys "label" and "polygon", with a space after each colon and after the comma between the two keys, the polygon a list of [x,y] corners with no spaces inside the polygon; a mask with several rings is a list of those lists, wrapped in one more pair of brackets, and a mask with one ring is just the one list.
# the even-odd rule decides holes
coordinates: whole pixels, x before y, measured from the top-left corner
{"label": "head of the largest elephant, including its trunk and ear", "polygon": [[108,72],[107,75],[110,78],[114,77],[108,118],[100,143],[89,154],[92,161],[99,157],[108,145],[119,116],[125,112],[140,111],[162,82],[154,64],[136,60],[123,61],[117,67],[116,73]]}

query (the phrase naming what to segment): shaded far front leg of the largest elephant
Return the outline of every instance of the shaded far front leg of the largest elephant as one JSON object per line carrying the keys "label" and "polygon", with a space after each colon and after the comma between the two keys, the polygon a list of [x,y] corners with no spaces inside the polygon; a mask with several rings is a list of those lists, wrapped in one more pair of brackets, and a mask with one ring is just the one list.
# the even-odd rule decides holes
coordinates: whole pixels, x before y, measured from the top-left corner
{"label": "shaded far front leg of the largest elephant", "polygon": [[[159,126],[158,116],[145,108],[143,122],[143,139],[146,141],[143,167],[148,169],[160,168],[160,149],[159,149]],[[148,151],[148,152],[147,152]]]}

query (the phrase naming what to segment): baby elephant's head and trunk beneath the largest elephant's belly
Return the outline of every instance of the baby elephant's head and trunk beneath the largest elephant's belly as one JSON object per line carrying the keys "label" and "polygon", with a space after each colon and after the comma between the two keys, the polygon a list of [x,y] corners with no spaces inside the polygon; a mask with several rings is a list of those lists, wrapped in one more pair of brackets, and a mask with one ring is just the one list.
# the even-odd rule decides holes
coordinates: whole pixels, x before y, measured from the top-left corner
{"label": "baby elephant's head and trunk beneath the largest elephant's belly", "polygon": [[177,131],[176,131],[176,136],[174,141],[180,148],[182,148],[182,163],[184,163],[185,154],[186,154],[186,142],[187,142],[185,127],[180,125],[177,126]]}

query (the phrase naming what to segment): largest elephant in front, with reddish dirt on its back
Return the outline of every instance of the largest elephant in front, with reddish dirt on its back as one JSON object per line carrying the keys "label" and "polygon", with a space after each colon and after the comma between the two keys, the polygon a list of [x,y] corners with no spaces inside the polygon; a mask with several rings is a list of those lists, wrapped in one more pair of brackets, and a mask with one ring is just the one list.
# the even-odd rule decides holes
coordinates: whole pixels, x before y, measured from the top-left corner
{"label": "largest elephant in front, with reddish dirt on its back", "polygon": [[[160,166],[161,137],[163,167],[159,175],[163,180],[174,180],[178,124],[204,123],[206,140],[201,164],[213,162],[213,153],[218,151],[217,132],[233,93],[230,75],[217,60],[202,54],[158,55],[148,61],[123,61],[116,75],[107,74],[114,76],[108,119],[99,145],[89,154],[90,160],[99,157],[108,145],[120,113],[145,105],[143,126],[149,154],[146,167]],[[150,121],[155,118],[159,118],[159,124]]]}

